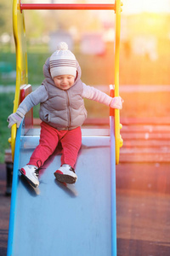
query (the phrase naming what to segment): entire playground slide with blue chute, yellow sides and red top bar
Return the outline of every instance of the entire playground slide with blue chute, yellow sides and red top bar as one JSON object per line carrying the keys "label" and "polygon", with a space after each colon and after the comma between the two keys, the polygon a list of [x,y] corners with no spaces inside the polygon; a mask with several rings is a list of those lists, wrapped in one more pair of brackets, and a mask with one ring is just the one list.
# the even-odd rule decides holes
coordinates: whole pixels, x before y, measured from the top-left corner
{"label": "entire playground slide with blue chute, yellow sides and red top bar", "polygon": [[[115,4],[13,3],[16,46],[16,89],[14,112],[31,92],[28,84],[25,9],[112,9],[116,13],[115,90],[119,96],[120,0]],[[116,256],[116,164],[119,163],[119,110],[110,111],[110,131],[82,130],[82,149],[77,160],[78,182],[61,185],[53,172],[59,154],[53,154],[40,172],[40,195],[18,170],[29,160],[39,139],[33,129],[32,111],[20,128],[11,129],[14,159],[13,187],[8,232],[9,255],[101,255]],[[78,171],[79,170],[79,171]]]}

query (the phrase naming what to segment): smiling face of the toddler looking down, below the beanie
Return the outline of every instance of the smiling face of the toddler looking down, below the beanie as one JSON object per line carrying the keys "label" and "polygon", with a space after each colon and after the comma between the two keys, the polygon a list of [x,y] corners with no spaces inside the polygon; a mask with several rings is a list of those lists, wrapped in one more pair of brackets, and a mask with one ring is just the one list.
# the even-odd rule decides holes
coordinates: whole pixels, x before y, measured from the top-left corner
{"label": "smiling face of the toddler looking down, below the beanie", "polygon": [[61,90],[68,90],[75,82],[75,77],[71,75],[60,75],[54,77],[54,84]]}

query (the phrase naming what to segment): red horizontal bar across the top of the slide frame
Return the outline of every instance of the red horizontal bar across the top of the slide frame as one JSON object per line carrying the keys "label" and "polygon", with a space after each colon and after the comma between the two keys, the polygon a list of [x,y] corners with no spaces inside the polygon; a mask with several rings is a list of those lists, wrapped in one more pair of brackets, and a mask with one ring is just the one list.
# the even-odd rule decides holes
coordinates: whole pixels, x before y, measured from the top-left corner
{"label": "red horizontal bar across the top of the slide frame", "polygon": [[115,4],[100,3],[100,4],[88,4],[88,3],[20,3],[20,10],[23,9],[114,9]]}

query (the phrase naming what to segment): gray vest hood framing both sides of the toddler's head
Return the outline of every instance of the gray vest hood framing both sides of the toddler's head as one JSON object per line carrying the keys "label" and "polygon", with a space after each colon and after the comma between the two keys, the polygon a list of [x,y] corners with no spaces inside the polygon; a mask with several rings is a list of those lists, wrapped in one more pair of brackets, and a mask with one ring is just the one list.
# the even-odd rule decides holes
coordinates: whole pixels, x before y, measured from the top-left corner
{"label": "gray vest hood framing both sides of the toddler's head", "polygon": [[[47,59],[47,61],[45,61],[45,64],[43,65],[43,75],[45,79],[48,79],[48,82],[51,82],[51,84],[54,84],[54,79],[52,79],[51,77],[51,73],[50,73],[50,68],[49,68],[49,58]],[[79,79],[81,79],[81,75],[82,75],[82,70],[81,67],[77,61],[77,77],[75,79],[75,83],[77,83],[77,81]],[[43,82],[42,82],[43,84]]]}

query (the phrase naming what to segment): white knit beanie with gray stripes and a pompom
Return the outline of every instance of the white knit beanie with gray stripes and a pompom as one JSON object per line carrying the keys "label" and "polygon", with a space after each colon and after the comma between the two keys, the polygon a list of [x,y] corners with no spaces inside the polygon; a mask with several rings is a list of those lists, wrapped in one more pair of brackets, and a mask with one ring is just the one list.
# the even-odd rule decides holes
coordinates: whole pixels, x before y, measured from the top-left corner
{"label": "white knit beanie with gray stripes and a pompom", "polygon": [[76,78],[77,60],[65,42],[60,42],[57,45],[57,50],[49,59],[49,67],[53,79],[56,76],[65,74],[72,75]]}

